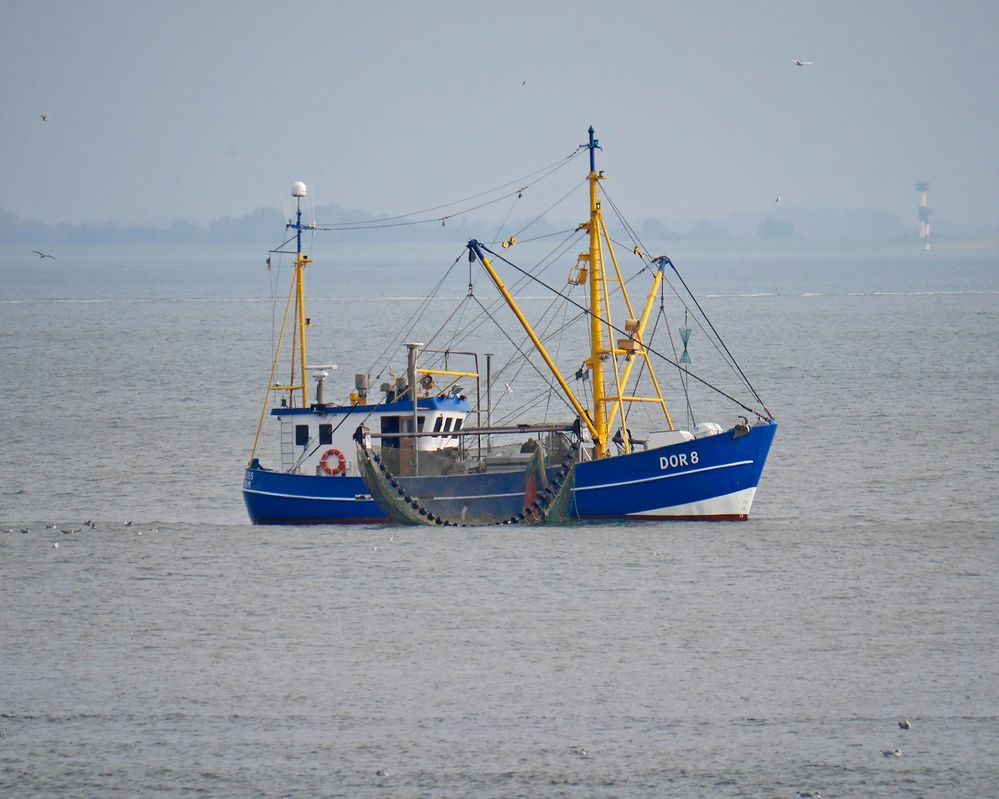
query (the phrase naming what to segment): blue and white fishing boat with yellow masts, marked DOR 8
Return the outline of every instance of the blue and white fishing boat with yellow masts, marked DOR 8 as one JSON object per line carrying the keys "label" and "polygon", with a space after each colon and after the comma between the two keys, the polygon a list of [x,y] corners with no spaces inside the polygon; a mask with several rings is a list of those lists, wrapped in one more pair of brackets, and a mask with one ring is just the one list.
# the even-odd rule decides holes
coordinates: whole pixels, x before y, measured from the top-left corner
{"label": "blue and white fishing boat with yellow masts, marked DOR 8", "polygon": [[[587,142],[566,159],[588,155],[589,169],[580,184],[586,218],[566,231],[556,248],[563,254],[576,242],[585,246],[563,284],[546,277],[554,262],[551,250],[529,268],[510,257],[528,236],[467,241],[462,253],[468,290],[460,302],[474,301],[480,321],[455,323],[455,335],[442,341],[441,331],[454,314],[444,318],[439,303],[425,306],[431,309],[431,339],[400,339],[398,374],[390,372],[376,396],[370,372],[357,372],[349,393],[331,398],[327,383],[334,365],[309,362],[304,273],[312,260],[302,251],[302,233],[338,228],[303,223],[307,190],[294,184],[291,236],[271,251],[290,257],[292,278],[243,477],[254,523],[455,526],[749,518],[777,423],[669,257],[652,256],[633,237],[629,255],[638,269],[625,276],[604,218],[605,203],[615,210],[616,205],[602,186],[604,172],[596,168],[602,148],[593,128],[588,133]],[[526,189],[512,185],[519,200]],[[626,221],[622,229],[633,232]],[[294,249],[286,249],[292,242]],[[487,306],[473,290],[473,272],[506,309],[504,335],[512,346],[500,369],[493,367],[494,353],[462,346],[475,340],[486,319],[497,321],[496,306]],[[638,278],[648,278],[648,288],[636,304],[628,284]],[[563,346],[570,325],[556,324],[550,306],[540,318],[530,318],[523,298],[515,296],[518,287],[559,303],[563,320],[571,311],[584,330],[577,346]],[[682,342],[679,355],[671,329],[660,324],[667,321],[667,287],[684,314],[683,326],[675,330]],[[748,399],[691,370],[692,317]],[[412,330],[408,324],[405,335]],[[669,344],[658,343],[657,333]],[[282,355],[288,339],[290,352]],[[496,340],[486,338],[486,346]],[[560,356],[575,358],[569,369],[559,365]],[[518,394],[503,377],[525,364],[534,370],[535,388],[546,392],[545,413],[537,410],[538,402],[527,403],[523,418],[506,414],[497,423],[500,402],[494,396],[506,400]],[[663,364],[672,377],[668,383],[653,368]],[[281,369],[290,370],[287,380],[276,379]],[[675,424],[670,414],[669,386],[683,397],[686,426]],[[732,422],[697,422],[694,386],[734,404]],[[554,410],[552,397],[557,397]],[[258,454],[267,417],[276,436],[272,463]]]}

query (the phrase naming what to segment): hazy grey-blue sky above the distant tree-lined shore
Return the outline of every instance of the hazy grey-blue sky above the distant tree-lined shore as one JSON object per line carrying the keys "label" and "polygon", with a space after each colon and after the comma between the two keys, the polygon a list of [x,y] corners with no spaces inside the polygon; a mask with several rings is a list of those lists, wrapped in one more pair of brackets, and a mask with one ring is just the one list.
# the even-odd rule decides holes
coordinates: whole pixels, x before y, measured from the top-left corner
{"label": "hazy grey-blue sky above the distant tree-lined shore", "polygon": [[0,208],[22,219],[203,223],[294,180],[402,213],[592,124],[636,222],[776,195],[915,219],[922,179],[938,217],[999,221],[995,0],[0,0],[0,23]]}

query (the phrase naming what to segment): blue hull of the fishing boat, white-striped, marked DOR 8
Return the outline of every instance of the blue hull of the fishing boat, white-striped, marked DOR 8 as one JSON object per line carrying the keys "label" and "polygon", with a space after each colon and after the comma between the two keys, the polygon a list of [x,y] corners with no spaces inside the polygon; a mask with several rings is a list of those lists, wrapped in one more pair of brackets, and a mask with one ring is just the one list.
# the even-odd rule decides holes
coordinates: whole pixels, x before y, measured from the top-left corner
{"label": "blue hull of the fishing boat, white-striped, marked DOR 8", "polygon": [[[759,424],[668,447],[579,463],[569,515],[580,520],[704,519],[749,516],[777,431]],[[523,510],[523,471],[400,477],[400,485],[445,518],[473,507],[492,518]],[[312,477],[248,468],[243,498],[254,524],[369,524],[387,518],[360,477]],[[474,523],[474,522],[473,522]]]}

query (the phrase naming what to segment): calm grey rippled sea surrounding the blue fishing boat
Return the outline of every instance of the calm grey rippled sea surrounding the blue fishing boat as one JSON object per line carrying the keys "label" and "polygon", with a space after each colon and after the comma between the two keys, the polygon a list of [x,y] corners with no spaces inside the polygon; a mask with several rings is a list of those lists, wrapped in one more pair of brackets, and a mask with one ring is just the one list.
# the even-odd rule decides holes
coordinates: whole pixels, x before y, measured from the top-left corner
{"label": "calm grey rippled sea surrounding the blue fishing boat", "polygon": [[[247,523],[262,250],[0,251],[0,796],[999,795],[999,254],[674,254],[753,518],[427,530]],[[458,253],[314,255],[343,388]]]}

